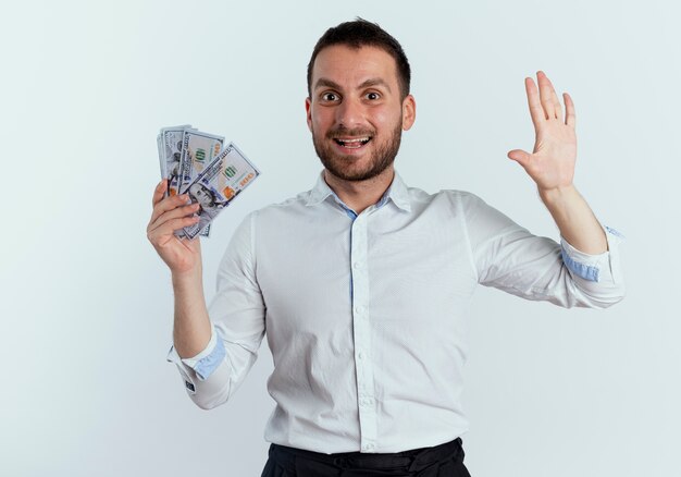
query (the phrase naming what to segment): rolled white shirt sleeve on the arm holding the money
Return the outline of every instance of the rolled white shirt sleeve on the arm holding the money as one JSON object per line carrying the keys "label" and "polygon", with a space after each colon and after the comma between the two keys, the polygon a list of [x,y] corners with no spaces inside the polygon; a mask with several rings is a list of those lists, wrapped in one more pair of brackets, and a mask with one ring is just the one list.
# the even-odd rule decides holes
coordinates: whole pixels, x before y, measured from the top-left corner
{"label": "rolled white shirt sleeve on the arm holding the money", "polygon": [[258,357],[264,337],[264,303],[256,279],[255,213],[234,232],[220,264],[216,294],[209,306],[211,341],[197,356],[182,359],[171,348],[191,400],[209,409],[225,403]]}

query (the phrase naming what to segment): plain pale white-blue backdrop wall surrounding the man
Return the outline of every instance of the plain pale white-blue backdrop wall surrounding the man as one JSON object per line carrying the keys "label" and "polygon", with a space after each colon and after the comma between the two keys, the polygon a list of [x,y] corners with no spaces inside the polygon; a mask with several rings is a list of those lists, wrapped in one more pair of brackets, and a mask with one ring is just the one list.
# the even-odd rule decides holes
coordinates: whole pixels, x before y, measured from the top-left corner
{"label": "plain pale white-blue backdrop wall surrounding the man", "polygon": [[235,140],[263,172],[203,242],[210,297],[240,219],[313,185],[306,66],[319,36],[356,15],[396,36],[412,65],[418,119],[396,162],[409,185],[471,191],[557,237],[506,158],[532,148],[523,78],[544,70],[577,105],[578,187],[627,235],[628,296],[605,311],[476,294],[472,475],[680,475],[671,0],[3,4],[0,474],[260,475],[267,344],[211,412],[165,363],[170,276],[145,232],[154,138],[190,122]]}

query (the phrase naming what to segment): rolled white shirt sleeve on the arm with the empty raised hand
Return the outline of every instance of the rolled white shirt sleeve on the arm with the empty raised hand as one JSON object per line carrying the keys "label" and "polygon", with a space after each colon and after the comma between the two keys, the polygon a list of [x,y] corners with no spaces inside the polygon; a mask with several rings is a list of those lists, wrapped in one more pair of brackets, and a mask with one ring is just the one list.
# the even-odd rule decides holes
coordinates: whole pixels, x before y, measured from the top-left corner
{"label": "rolled white shirt sleeve on the arm with the empty raised hand", "polygon": [[463,196],[461,207],[481,284],[568,308],[605,308],[624,296],[612,229],[604,228],[608,250],[589,255],[531,234],[476,196]]}

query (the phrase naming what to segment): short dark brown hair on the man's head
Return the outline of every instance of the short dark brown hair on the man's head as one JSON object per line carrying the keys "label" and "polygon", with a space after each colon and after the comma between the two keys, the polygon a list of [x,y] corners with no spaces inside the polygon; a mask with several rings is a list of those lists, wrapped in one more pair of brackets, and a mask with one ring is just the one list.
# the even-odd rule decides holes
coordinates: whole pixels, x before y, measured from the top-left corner
{"label": "short dark brown hair on the man's head", "polygon": [[379,24],[368,22],[358,16],[357,20],[352,22],[345,22],[338,26],[329,28],[317,41],[317,45],[314,45],[312,57],[308,63],[308,95],[310,98],[312,97],[312,69],[314,68],[314,60],[324,48],[335,45],[345,45],[354,49],[376,47],[384,50],[395,60],[401,98],[405,99],[407,97],[411,83],[411,69],[409,68],[409,61],[407,60],[401,45],[386,30],[381,28]]}

